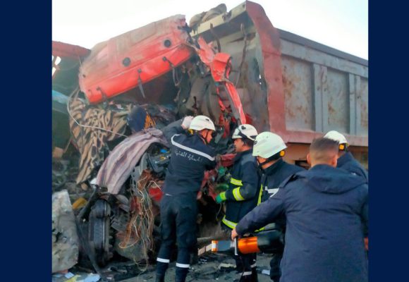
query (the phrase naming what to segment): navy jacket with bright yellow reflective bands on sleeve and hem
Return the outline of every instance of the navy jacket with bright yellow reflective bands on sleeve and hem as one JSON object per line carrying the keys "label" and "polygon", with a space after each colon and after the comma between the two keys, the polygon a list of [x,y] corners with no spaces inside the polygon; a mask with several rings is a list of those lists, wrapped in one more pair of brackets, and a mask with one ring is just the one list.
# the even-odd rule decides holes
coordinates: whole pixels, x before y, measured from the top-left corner
{"label": "navy jacket with bright yellow reflective bands on sleeve and hem", "polygon": [[226,216],[221,221],[231,229],[257,206],[260,193],[257,187],[257,161],[252,156],[252,150],[237,153],[233,161],[231,180],[226,191]]}

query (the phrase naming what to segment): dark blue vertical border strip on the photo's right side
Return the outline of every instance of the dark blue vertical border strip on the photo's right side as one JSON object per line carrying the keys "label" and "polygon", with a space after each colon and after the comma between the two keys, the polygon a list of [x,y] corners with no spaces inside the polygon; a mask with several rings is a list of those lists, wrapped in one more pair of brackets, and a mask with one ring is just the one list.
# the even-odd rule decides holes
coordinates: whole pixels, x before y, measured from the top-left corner
{"label": "dark blue vertical border strip on the photo's right side", "polygon": [[408,281],[408,14],[369,8],[370,282]]}

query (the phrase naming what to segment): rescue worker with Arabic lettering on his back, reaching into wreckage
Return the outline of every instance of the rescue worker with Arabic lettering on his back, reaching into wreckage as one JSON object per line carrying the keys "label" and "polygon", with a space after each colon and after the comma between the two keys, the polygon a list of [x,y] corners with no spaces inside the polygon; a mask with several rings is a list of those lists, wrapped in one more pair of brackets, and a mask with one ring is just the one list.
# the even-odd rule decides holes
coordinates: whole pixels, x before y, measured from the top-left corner
{"label": "rescue worker with Arabic lettering on his back, reaching into wreckage", "polygon": [[[185,134],[187,129],[194,130],[194,134]],[[216,166],[214,149],[209,146],[215,128],[207,116],[187,116],[183,121],[169,124],[163,131],[171,144],[171,159],[160,203],[161,247],[156,281],[164,281],[171,249],[177,243],[176,281],[181,282],[188,275],[190,253],[196,251],[197,192],[204,171]]]}

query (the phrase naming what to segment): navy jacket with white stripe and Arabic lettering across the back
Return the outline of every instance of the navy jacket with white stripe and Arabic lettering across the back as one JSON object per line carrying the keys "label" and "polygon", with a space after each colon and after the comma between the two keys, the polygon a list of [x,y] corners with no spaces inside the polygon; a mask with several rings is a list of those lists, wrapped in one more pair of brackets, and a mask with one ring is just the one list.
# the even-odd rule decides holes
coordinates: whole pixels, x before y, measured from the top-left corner
{"label": "navy jacket with white stripe and Arabic lettering across the back", "polygon": [[198,192],[204,171],[216,166],[215,152],[204,144],[199,135],[188,135],[175,121],[163,129],[171,144],[171,160],[166,171],[164,193],[180,195],[186,192]]}

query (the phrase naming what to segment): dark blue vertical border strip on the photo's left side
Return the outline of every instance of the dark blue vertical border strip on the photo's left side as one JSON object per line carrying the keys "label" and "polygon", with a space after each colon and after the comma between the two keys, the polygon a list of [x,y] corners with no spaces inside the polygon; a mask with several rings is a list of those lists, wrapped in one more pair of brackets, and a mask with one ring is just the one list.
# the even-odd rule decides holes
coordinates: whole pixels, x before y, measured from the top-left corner
{"label": "dark blue vertical border strip on the photo's left side", "polygon": [[51,281],[51,1],[1,8],[0,280]]}

